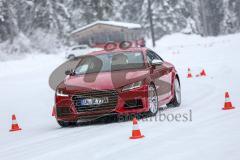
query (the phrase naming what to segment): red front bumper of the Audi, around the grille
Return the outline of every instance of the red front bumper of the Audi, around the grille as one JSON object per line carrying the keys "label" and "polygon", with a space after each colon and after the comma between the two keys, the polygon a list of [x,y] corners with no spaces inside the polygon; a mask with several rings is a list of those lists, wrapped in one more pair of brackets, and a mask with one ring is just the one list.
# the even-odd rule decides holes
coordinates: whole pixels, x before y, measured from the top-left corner
{"label": "red front bumper of the Audi, around the grille", "polygon": [[114,106],[96,106],[84,111],[79,111],[75,105],[76,103],[73,100],[75,95],[56,96],[56,119],[58,121],[85,121],[108,115],[126,115],[148,111],[148,85],[142,85],[139,88],[124,92],[116,90],[116,92],[117,100]]}

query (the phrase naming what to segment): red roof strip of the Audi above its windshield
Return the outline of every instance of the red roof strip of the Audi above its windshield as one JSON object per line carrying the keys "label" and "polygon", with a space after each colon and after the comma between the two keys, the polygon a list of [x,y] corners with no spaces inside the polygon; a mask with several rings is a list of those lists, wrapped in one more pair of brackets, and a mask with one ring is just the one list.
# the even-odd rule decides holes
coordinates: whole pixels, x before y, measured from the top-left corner
{"label": "red roof strip of the Audi above its windshield", "polygon": [[100,51],[93,51],[90,52],[88,55],[100,55],[100,54],[110,54],[110,53],[115,53],[115,52],[143,52],[148,50],[148,48],[146,47],[132,47],[132,48],[128,48],[128,49],[114,49],[111,51],[106,51],[106,50],[100,50]]}

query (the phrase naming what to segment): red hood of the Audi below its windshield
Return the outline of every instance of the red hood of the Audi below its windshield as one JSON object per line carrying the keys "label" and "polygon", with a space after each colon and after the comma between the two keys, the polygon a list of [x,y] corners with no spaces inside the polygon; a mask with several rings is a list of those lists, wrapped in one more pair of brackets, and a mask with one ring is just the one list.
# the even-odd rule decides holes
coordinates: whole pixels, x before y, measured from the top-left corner
{"label": "red hood of the Audi below its windshield", "polygon": [[125,70],[68,76],[64,80],[67,90],[110,90],[141,81],[149,74],[148,70]]}

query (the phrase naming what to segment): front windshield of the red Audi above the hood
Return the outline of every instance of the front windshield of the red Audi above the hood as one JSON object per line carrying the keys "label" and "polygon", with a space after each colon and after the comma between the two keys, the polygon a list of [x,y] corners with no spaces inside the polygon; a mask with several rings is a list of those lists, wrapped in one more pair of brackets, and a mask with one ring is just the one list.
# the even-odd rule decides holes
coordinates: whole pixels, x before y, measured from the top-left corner
{"label": "front windshield of the red Audi above the hood", "polygon": [[144,61],[141,52],[118,52],[83,57],[76,67],[75,73],[79,75],[143,67]]}

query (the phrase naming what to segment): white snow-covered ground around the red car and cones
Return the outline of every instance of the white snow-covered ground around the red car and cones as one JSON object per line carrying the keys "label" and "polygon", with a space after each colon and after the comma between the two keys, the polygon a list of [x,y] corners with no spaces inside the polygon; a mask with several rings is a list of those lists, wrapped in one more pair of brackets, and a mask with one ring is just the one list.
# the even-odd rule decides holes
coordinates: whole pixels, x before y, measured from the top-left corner
{"label": "white snow-covered ground around the red car and cones", "polygon": [[[175,34],[155,51],[172,62],[182,82],[182,105],[192,121],[139,121],[145,138],[129,140],[132,122],[60,128],[51,117],[50,73],[64,55],[30,55],[0,62],[0,159],[231,159],[240,157],[240,34],[201,38]],[[205,69],[207,77],[187,79]],[[223,111],[229,91],[234,110]],[[16,114],[20,132],[10,133]]]}

